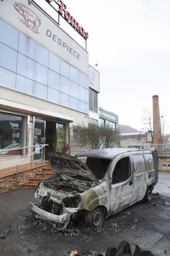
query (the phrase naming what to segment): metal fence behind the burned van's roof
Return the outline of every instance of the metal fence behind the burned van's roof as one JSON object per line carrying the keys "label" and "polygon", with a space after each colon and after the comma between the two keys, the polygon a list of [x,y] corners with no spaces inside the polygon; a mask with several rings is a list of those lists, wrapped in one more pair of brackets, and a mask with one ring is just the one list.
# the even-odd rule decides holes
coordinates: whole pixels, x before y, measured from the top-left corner
{"label": "metal fence behind the burned van's roof", "polygon": [[139,148],[139,149],[150,149],[151,147],[155,147],[158,151],[158,157],[170,157],[170,144],[140,144],[140,145],[126,145],[119,146],[124,148]]}

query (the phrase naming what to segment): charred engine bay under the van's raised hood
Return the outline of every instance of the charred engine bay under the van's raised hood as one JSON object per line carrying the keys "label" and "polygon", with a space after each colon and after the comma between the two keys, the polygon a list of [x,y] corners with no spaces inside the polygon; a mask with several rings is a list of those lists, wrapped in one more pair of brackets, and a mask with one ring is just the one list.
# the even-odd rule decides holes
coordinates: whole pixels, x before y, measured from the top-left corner
{"label": "charred engine bay under the van's raised hood", "polygon": [[55,191],[71,192],[72,194],[82,193],[98,185],[96,182],[87,181],[83,176],[79,175],[72,175],[71,177],[60,175],[52,178],[51,180],[43,182],[43,184],[46,188],[50,188]]}

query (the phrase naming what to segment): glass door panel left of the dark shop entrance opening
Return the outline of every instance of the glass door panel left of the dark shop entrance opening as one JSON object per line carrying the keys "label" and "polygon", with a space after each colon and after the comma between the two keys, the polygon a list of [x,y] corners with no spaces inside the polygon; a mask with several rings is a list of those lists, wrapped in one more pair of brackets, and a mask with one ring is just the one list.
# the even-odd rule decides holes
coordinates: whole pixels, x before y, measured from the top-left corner
{"label": "glass door panel left of the dark shop entrance opening", "polygon": [[[35,119],[33,140],[34,140],[34,145],[37,147],[35,147],[34,150],[37,150],[38,148],[40,148],[39,145],[46,143],[45,128],[46,128],[45,121]],[[35,153],[34,158],[33,158],[34,160],[41,159],[41,154],[39,154],[39,153],[41,153],[41,150],[42,149],[39,149]]]}

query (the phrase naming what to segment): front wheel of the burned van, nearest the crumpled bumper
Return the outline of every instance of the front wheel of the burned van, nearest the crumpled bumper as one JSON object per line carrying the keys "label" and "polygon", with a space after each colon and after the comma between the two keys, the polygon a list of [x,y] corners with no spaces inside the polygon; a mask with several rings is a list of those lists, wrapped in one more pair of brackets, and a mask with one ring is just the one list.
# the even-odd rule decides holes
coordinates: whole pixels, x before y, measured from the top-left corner
{"label": "front wheel of the burned van, nearest the crumpled bumper", "polygon": [[98,207],[94,211],[88,211],[85,216],[86,226],[92,227],[93,230],[99,229],[104,220],[103,210]]}

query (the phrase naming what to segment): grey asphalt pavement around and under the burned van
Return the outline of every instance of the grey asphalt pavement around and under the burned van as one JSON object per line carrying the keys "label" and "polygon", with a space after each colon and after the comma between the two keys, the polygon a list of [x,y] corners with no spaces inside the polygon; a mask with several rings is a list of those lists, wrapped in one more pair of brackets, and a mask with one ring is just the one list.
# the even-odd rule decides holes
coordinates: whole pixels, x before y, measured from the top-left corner
{"label": "grey asphalt pavement around and under the burned van", "polygon": [[[0,235],[11,225],[7,238],[0,239],[0,255],[67,256],[73,248],[81,255],[104,253],[126,240],[132,251],[135,244],[154,255],[170,255],[170,173],[159,173],[158,186],[151,203],[141,202],[106,219],[98,231],[80,220],[71,223],[70,232],[56,231],[48,223],[37,222],[29,210],[34,190],[24,189],[0,194]],[[165,189],[164,189],[165,188]]]}

